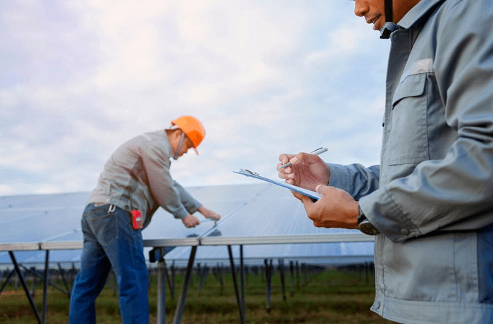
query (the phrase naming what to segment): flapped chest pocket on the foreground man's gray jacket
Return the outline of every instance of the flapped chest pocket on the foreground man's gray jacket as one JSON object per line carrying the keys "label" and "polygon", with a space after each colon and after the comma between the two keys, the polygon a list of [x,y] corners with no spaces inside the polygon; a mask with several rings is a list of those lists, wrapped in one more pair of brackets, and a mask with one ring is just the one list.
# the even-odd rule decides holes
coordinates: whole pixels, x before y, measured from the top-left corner
{"label": "flapped chest pocket on the foreground man's gray jacket", "polygon": [[385,153],[387,166],[417,164],[428,160],[426,73],[409,75],[397,86]]}

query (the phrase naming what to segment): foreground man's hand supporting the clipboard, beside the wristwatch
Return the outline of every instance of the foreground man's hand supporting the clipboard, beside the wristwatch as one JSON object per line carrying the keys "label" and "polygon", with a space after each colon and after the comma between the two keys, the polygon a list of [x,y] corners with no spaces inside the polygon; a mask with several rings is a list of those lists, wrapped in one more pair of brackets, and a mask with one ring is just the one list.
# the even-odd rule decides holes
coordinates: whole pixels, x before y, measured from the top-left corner
{"label": "foreground man's hand supporting the clipboard, beside the wristwatch", "polygon": [[358,225],[358,201],[336,187],[318,185],[316,192],[322,198],[313,202],[304,194],[293,192],[303,202],[308,218],[318,228],[356,228]]}

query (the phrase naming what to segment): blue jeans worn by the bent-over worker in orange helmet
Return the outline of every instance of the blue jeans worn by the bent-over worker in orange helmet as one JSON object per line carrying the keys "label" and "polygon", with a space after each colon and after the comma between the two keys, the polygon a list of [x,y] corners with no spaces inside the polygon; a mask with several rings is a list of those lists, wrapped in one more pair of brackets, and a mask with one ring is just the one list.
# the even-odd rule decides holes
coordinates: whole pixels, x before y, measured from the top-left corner
{"label": "blue jeans worn by the bent-over worker in orange helmet", "polygon": [[128,211],[113,205],[87,205],[82,216],[84,247],[70,297],[69,324],[96,323],[94,301],[111,268],[118,282],[123,323],[149,323],[149,275],[141,231],[132,228]]}

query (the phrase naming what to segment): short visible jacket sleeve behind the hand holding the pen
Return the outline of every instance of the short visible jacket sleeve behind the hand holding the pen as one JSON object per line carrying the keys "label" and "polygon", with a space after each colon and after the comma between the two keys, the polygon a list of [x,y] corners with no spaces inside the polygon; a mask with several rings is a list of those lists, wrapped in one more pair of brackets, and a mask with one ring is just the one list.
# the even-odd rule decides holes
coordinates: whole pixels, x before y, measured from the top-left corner
{"label": "short visible jacket sleeve behind the hand holding the pen", "polygon": [[365,168],[361,164],[341,166],[333,163],[327,163],[327,166],[330,168],[329,185],[343,189],[355,200],[378,189],[380,166]]}

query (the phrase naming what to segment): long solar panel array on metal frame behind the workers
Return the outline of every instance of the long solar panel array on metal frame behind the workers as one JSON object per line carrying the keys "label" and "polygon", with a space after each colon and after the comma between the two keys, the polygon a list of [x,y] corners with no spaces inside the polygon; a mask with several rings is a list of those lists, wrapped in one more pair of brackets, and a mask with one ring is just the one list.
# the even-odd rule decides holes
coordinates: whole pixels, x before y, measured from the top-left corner
{"label": "long solar panel array on metal frame behind the workers", "polygon": [[[289,190],[270,184],[187,187],[206,208],[222,218],[215,224],[196,213],[201,224],[187,229],[180,220],[159,208],[142,234],[146,252],[150,242],[205,237],[220,239],[220,245],[245,242],[246,261],[263,258],[310,259],[323,263],[362,263],[373,260],[373,242],[299,243],[297,237],[321,235],[361,235],[357,230],[316,228],[306,217],[303,205]],[[15,251],[19,263],[44,263],[45,252],[31,249],[40,243],[82,242],[80,218],[89,192],[71,194],[32,194],[0,197],[0,264],[11,263],[9,250]],[[284,239],[288,244],[258,244],[269,237]],[[308,239],[306,242],[311,242]],[[204,242],[206,239],[204,239]],[[242,243],[244,244],[244,243]],[[161,245],[161,244],[158,244]],[[175,244],[180,245],[180,244]],[[186,245],[186,244],[185,244]],[[167,262],[185,263],[190,247],[174,247],[166,254]],[[235,253],[235,252],[234,252]],[[51,262],[80,261],[80,249],[56,249]],[[148,257],[148,254],[146,253]],[[237,256],[237,255],[235,255]],[[196,262],[225,261],[224,246],[199,247]]]}

